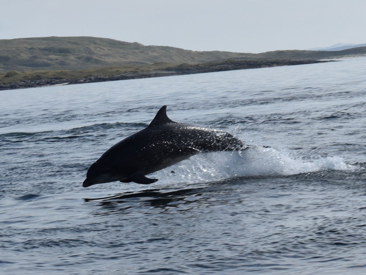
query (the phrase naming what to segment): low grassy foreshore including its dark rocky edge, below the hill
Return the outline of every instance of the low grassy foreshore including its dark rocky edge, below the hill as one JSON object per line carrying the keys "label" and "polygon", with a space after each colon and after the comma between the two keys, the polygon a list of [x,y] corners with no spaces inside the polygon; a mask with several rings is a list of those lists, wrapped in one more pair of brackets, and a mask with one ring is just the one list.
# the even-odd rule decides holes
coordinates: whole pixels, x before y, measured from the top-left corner
{"label": "low grassy foreshore including its dark rocky edge, below the hill", "polygon": [[221,72],[274,66],[319,63],[319,60],[226,60],[202,64],[155,63],[123,65],[85,70],[8,71],[0,73],[0,90],[42,87],[49,85],[80,84],[182,74]]}

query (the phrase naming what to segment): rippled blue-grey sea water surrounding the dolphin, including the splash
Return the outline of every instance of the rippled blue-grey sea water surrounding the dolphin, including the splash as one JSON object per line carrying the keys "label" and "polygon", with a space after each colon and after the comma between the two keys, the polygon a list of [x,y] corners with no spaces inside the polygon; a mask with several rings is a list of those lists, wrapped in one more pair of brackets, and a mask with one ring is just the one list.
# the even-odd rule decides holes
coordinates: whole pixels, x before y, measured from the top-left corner
{"label": "rippled blue-grey sea water surrounding the dolphin, including the splash", "polygon": [[[365,274],[365,64],[1,91],[0,273]],[[250,148],[83,188],[165,104]]]}

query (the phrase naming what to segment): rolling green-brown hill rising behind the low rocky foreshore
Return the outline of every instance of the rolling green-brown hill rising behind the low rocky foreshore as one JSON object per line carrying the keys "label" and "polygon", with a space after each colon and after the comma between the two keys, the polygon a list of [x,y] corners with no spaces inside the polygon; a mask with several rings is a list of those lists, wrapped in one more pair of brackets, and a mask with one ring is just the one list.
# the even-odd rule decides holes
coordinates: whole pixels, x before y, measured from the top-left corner
{"label": "rolling green-brown hill rising behind the low rocky foreshore", "polygon": [[198,64],[225,60],[317,60],[366,55],[366,47],[343,51],[273,51],[261,54],[189,51],[97,37],[39,37],[0,40],[0,72],[82,70],[154,63]]}

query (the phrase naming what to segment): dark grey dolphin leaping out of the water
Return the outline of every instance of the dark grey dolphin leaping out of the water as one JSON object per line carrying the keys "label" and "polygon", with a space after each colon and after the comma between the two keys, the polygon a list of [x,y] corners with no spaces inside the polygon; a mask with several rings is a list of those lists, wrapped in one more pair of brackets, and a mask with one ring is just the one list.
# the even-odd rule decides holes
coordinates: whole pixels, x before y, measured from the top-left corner
{"label": "dark grey dolphin leaping out of the water", "polygon": [[86,173],[83,187],[112,181],[150,184],[145,177],[200,152],[246,149],[227,132],[174,122],[161,107],[145,129],[109,148]]}

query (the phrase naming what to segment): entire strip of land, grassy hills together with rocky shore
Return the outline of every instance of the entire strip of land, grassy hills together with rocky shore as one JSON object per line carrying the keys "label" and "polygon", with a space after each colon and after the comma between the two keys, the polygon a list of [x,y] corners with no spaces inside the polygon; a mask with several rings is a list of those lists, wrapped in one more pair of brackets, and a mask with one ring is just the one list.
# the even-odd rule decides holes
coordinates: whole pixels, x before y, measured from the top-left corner
{"label": "entire strip of land, grassy hills together with rocky shore", "polygon": [[144,46],[96,37],[19,38],[0,40],[0,90],[299,65],[356,55],[366,55],[366,47],[246,54]]}

